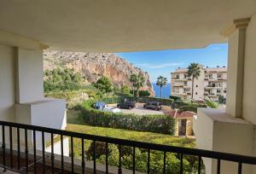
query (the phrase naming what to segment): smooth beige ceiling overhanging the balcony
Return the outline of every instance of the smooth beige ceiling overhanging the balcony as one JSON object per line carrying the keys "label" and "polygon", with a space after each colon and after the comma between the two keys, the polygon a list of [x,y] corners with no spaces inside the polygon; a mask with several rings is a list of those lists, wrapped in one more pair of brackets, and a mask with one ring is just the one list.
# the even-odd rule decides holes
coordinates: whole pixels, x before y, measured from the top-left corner
{"label": "smooth beige ceiling overhanging the balcony", "polygon": [[200,48],[256,11],[255,0],[3,0],[0,28],[51,49],[122,52]]}

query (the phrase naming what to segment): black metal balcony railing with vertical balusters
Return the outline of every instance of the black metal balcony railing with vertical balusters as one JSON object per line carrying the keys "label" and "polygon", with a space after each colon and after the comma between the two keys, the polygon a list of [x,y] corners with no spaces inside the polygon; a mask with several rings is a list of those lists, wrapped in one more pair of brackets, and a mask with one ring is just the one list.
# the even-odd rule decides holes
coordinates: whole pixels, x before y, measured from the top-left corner
{"label": "black metal balcony railing with vertical balusters", "polygon": [[[42,165],[42,171],[45,173],[45,148],[44,148],[44,135],[45,134],[50,134],[50,145],[51,145],[51,152],[50,154],[50,169],[51,172],[55,172],[55,149],[54,149],[54,136],[59,135],[61,139],[61,173],[63,173],[64,170],[64,152],[63,152],[63,136],[68,136],[70,137],[70,149],[71,149],[71,169],[70,171],[73,173],[74,172],[74,154],[73,154],[73,139],[74,138],[79,138],[81,140],[82,144],[82,149],[81,149],[81,168],[82,168],[82,173],[85,173],[85,166],[86,166],[86,161],[84,159],[84,141],[85,140],[90,140],[93,142],[93,172],[96,173],[96,142],[104,142],[105,143],[105,148],[106,148],[106,173],[108,173],[108,144],[113,143],[116,144],[119,147],[119,161],[118,161],[118,173],[122,173],[122,147],[123,146],[129,146],[132,148],[132,171],[135,173],[136,171],[136,148],[144,148],[148,149],[146,151],[148,153],[148,161],[147,161],[147,172],[150,172],[150,152],[153,150],[161,151],[163,152],[163,173],[166,173],[166,153],[176,153],[179,154],[180,157],[180,166],[179,166],[179,171],[177,173],[183,173],[183,156],[184,155],[193,155],[196,158],[198,158],[198,173],[201,173],[201,168],[202,168],[202,157],[210,158],[210,159],[217,159],[218,165],[217,165],[217,173],[220,173],[220,168],[221,168],[221,161],[222,160],[227,160],[227,161],[232,161],[237,163],[237,173],[241,173],[242,171],[242,165],[247,164],[247,165],[256,165],[256,157],[250,157],[250,156],[244,156],[244,155],[238,155],[238,154],[228,154],[228,153],[220,153],[220,152],[213,152],[213,151],[208,151],[208,150],[202,150],[202,149],[195,149],[195,148],[180,148],[180,147],[174,147],[174,146],[166,146],[166,145],[160,145],[160,144],[154,144],[154,143],[147,143],[147,142],[136,142],[136,141],[130,141],[130,140],[123,140],[123,139],[118,139],[118,138],[113,138],[113,137],[107,137],[107,136],[94,136],[94,135],[89,135],[89,134],[83,134],[83,133],[78,133],[78,132],[73,132],[73,131],[63,131],[63,130],[56,130],[56,129],[51,129],[47,127],[42,127],[42,126],[36,126],[36,125],[24,125],[24,124],[18,124],[18,123],[11,123],[11,122],[5,122],[5,121],[0,121],[0,126],[2,126],[2,163],[1,167],[3,167],[4,170],[10,170],[10,171],[17,171],[20,172],[20,170],[23,169],[23,172],[26,171],[26,173],[29,172],[29,170],[33,170],[33,173],[37,172],[37,165]],[[9,148],[6,146],[7,142],[7,136],[6,136],[6,129],[9,128]],[[13,147],[14,147],[14,142],[13,142],[13,131],[16,129],[16,146],[17,146],[17,156],[14,156]],[[21,146],[20,145],[20,132],[24,132],[24,141],[25,145]],[[32,152],[29,152],[28,148],[28,131],[32,132]],[[42,157],[38,159],[37,157],[37,148],[36,147],[36,142],[37,142],[37,136],[36,132],[39,132],[42,134]],[[24,148],[24,149],[23,149]],[[6,158],[7,158],[7,151],[9,151],[9,165],[6,163]],[[24,152],[25,154],[25,163],[24,166],[21,167],[21,153]],[[29,153],[32,154],[32,159],[29,159]],[[30,155],[31,156],[31,155]],[[14,166],[14,159],[16,159],[16,166]],[[32,165],[29,164],[29,160],[32,160]],[[69,171],[69,172],[70,172]]]}

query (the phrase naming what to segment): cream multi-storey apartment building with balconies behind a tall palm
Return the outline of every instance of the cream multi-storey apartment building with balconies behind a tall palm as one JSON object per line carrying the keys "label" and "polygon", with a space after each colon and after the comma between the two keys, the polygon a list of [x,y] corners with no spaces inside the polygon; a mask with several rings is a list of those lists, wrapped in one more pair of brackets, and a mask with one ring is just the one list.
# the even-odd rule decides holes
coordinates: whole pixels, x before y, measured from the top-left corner
{"label": "cream multi-storey apartment building with balconies behind a tall palm", "polygon": [[[218,101],[219,96],[226,98],[227,68],[204,67],[200,65],[200,76],[194,81],[193,99],[202,101],[206,96]],[[182,96],[184,99],[192,98],[192,79],[187,74],[187,68],[177,68],[171,73],[172,96]]]}

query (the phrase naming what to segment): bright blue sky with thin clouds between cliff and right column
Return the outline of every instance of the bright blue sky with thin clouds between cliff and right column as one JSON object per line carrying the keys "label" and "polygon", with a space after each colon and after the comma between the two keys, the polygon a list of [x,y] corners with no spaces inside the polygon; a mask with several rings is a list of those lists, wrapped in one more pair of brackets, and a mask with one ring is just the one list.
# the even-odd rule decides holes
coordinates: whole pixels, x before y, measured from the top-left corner
{"label": "bright blue sky with thin clouds between cliff and right column", "polygon": [[227,66],[228,44],[211,44],[203,49],[170,49],[116,54],[148,72],[151,82],[155,82],[160,75],[168,78],[170,82],[171,72],[177,67],[188,67],[191,62],[200,63],[206,67]]}

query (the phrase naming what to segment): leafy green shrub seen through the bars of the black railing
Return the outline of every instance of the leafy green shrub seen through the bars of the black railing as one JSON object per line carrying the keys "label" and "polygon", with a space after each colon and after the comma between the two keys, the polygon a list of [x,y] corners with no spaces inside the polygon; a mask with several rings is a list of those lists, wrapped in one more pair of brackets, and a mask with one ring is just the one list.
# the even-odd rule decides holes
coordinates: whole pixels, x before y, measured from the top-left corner
{"label": "leafy green shrub seen through the bars of the black railing", "polygon": [[[121,148],[122,167],[132,170],[132,148],[122,146]],[[164,167],[163,160],[164,153],[160,151],[150,151],[150,173],[162,173]],[[87,160],[93,159],[93,143],[86,152]],[[191,173],[195,171],[195,165],[190,164],[189,160],[197,160],[192,156],[184,156],[183,171],[184,173]],[[148,151],[143,148],[136,148],[135,154],[136,171],[147,172],[148,169]],[[96,162],[105,164],[106,162],[106,148],[105,142],[96,142]],[[196,164],[196,162],[195,162]],[[108,146],[108,165],[119,166],[119,147],[114,144]],[[166,153],[166,173],[177,173],[180,168],[180,159],[178,154]]]}

